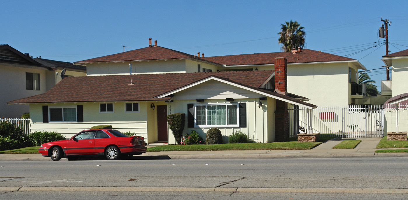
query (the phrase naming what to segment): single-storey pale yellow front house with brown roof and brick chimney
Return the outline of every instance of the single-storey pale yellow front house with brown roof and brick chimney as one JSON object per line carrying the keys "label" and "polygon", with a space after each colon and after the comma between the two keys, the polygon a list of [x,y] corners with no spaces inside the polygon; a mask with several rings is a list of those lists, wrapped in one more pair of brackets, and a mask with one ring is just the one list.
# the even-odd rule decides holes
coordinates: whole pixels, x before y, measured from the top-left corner
{"label": "single-storey pale yellow front house with brown roof and brick chimney", "polygon": [[317,106],[287,92],[286,59],[275,63],[275,71],[68,77],[44,94],[8,103],[30,105],[32,132],[58,131],[71,137],[94,125],[110,124],[148,143],[174,144],[166,116],[185,113],[184,133],[196,130],[205,138],[206,131],[216,127],[224,141],[238,130],[257,142],[281,141],[288,137],[288,104]]}

